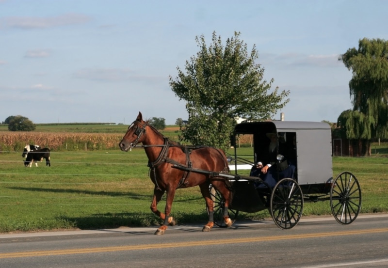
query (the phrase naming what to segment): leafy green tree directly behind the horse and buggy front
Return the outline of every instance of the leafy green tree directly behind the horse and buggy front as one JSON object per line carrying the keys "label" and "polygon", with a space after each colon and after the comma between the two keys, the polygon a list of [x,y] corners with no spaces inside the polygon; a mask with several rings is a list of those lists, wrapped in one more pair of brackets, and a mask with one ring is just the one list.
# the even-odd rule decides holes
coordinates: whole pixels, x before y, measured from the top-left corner
{"label": "leafy green tree directly behind the horse and buggy front", "polygon": [[186,61],[186,73],[177,67],[178,77],[169,77],[172,90],[186,101],[189,113],[180,140],[226,149],[235,118],[269,119],[289,101],[284,99],[289,91],[278,94],[276,87],[270,92],[274,79],[263,80],[264,68],[255,62],[259,58],[256,46],[248,55],[239,37],[240,32],[235,32],[224,47],[213,32],[208,48],[205,37],[196,36],[199,51]]}

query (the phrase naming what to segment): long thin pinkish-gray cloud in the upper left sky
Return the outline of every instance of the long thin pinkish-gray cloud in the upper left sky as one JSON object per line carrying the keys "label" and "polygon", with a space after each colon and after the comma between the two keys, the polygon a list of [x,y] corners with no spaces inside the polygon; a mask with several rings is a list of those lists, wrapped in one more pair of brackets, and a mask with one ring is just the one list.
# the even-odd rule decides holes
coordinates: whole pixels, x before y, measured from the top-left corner
{"label": "long thin pinkish-gray cloud in the upper left sky", "polygon": [[23,30],[46,29],[58,26],[83,24],[91,18],[82,14],[65,14],[54,17],[6,17],[0,22],[6,28],[19,28]]}

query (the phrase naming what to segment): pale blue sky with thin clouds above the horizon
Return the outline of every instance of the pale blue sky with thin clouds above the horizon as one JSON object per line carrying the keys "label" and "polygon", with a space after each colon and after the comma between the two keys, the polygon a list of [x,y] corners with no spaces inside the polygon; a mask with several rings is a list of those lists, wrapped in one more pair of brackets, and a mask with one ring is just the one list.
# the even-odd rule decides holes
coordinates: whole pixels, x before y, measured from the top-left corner
{"label": "pale blue sky with thin clouds above the horizon", "polygon": [[224,44],[240,32],[264,79],[290,91],[273,118],[337,122],[352,109],[338,57],[362,38],[388,40],[387,10],[386,0],[0,0],[0,122],[187,120],[169,76],[213,32]]}

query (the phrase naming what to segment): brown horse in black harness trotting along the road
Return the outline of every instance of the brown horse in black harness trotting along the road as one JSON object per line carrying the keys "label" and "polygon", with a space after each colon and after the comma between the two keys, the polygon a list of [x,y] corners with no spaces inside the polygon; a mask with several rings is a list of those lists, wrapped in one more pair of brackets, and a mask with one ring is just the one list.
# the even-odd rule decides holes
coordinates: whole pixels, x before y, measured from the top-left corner
{"label": "brown horse in black harness trotting along the road", "polygon": [[[232,225],[227,211],[232,198],[229,183],[225,177],[217,176],[221,172],[229,172],[224,151],[205,146],[187,147],[172,142],[153,126],[143,121],[141,112],[128,127],[127,133],[119,146],[122,151],[127,152],[139,142],[143,143],[146,151],[148,166],[151,169],[151,181],[155,185],[151,210],[164,221],[162,226],[155,232],[155,235],[163,235],[168,224],[172,226],[175,224],[170,212],[176,189],[197,185],[201,189],[209,211],[209,222],[203,227],[202,231],[210,231],[214,224],[213,200],[209,191],[210,183],[223,195],[225,199],[223,218],[226,226]],[[210,172],[207,173],[206,171]],[[164,192],[166,192],[167,197],[164,213],[162,213],[158,210],[157,205]]]}

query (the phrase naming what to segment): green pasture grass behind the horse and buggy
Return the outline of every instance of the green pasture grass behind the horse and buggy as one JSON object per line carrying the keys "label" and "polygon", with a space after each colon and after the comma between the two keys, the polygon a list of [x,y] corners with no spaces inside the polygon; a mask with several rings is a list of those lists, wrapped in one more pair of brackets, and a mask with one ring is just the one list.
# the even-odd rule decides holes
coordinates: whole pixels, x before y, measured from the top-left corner
{"label": "green pasture grass behind the horse and buggy", "polygon": [[[249,158],[251,148],[239,148]],[[231,150],[228,153],[233,153]],[[25,168],[21,154],[0,154],[0,232],[150,226],[160,219],[149,209],[153,184],[144,150],[52,152],[51,167]],[[333,176],[354,173],[361,184],[361,213],[388,211],[388,159],[333,158]],[[159,204],[164,209],[164,201]],[[178,223],[207,221],[199,188],[178,189]],[[306,203],[304,215],[331,214],[328,202]],[[240,220],[270,217],[267,210],[241,213]]]}

